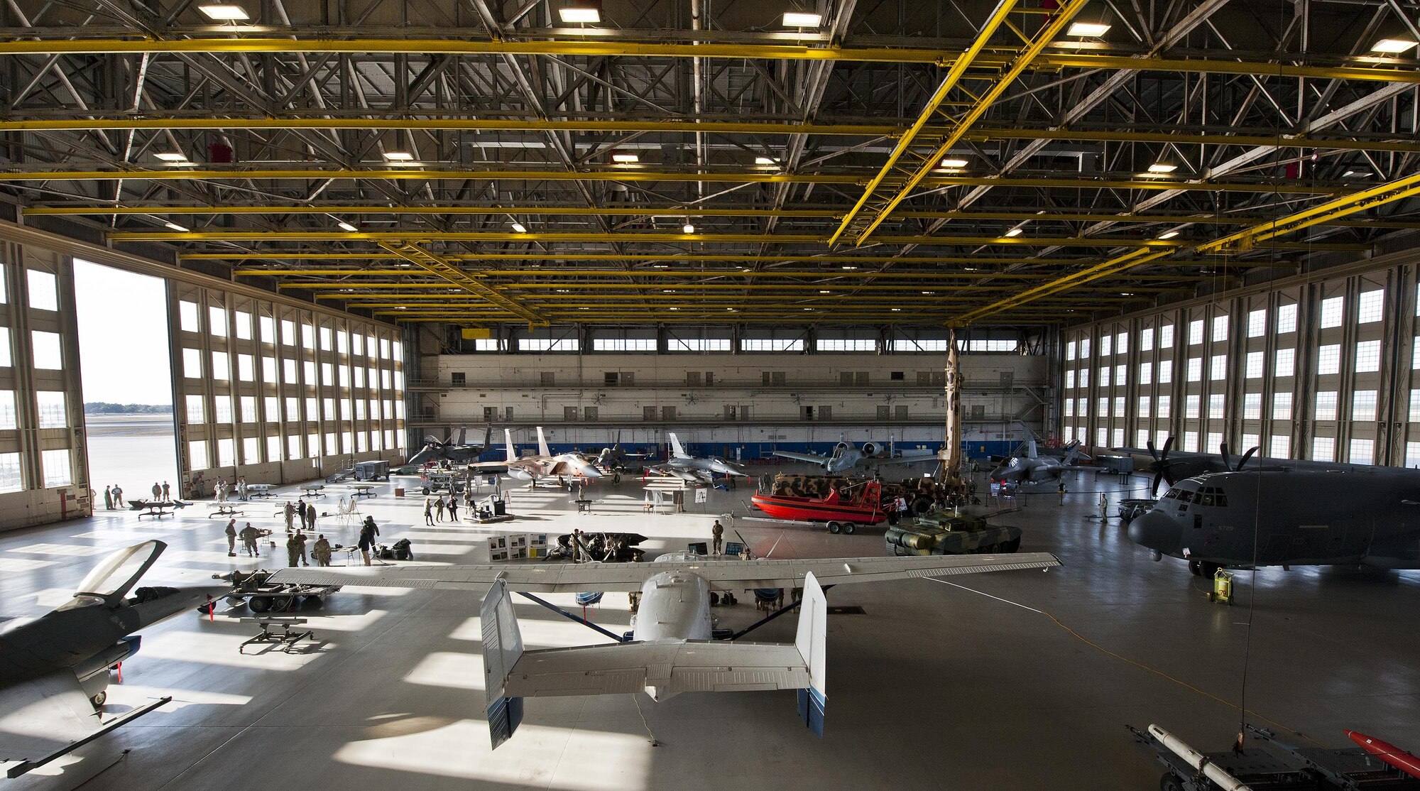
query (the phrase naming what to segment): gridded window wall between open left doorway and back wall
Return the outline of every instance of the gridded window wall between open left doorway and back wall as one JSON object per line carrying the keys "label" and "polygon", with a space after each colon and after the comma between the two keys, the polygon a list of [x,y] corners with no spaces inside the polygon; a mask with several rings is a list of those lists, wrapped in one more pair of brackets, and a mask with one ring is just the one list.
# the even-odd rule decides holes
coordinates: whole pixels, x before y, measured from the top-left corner
{"label": "gridded window wall between open left doorway and back wall", "polygon": [[186,496],[403,456],[396,328],[186,283],[169,300]]}

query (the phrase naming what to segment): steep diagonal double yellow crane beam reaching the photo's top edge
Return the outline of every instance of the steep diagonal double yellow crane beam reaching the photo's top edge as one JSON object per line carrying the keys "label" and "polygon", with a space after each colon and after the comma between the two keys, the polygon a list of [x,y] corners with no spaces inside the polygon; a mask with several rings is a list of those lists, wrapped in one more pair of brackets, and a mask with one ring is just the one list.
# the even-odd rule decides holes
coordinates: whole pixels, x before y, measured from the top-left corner
{"label": "steep diagonal double yellow crane beam reaching the photo's top edge", "polygon": [[[995,36],[997,28],[1000,28],[1015,7],[1015,0],[1001,0],[1000,4],[993,11],[991,17],[981,26],[977,31],[977,37],[967,47],[967,51],[951,64],[947,70],[946,77],[937,89],[927,99],[927,104],[922,108],[922,114],[917,115],[917,121],[907,129],[902,138],[897,139],[897,145],[893,148],[892,153],[888,156],[888,162],[883,163],[882,169],[873,176],[873,180],[868,183],[863,189],[862,197],[853,204],[853,209],[843,217],[839,223],[838,230],[834,231],[829,244],[838,244],[839,239],[851,237],[853,244],[862,247],[868,243],[868,237],[872,236],[878,226],[880,226],[893,209],[897,207],[917,186],[927,179],[927,176],[939,168],[941,158],[951,151],[954,145],[961,142],[961,138],[971,128],[990,107],[1001,98],[1001,94],[1015,82],[1015,78],[1025,71],[1025,67],[1035,60],[1047,44],[1051,43],[1055,36],[1058,36],[1071,18],[1089,0],[1066,0],[1066,3],[1055,13],[1055,16],[1048,17],[1048,21],[1037,31],[1034,38],[1025,38],[1014,27],[1014,33],[1025,38],[1025,47],[1015,54],[1011,64],[1000,75],[990,78],[987,88],[981,95],[976,95],[967,89],[963,82],[967,80],[967,72],[970,70],[980,70],[981,64],[977,58],[985,50],[987,44]],[[977,78],[981,80],[980,77]],[[950,131],[941,138],[926,138],[923,131],[927,125],[937,116],[941,111],[943,104],[956,91],[960,91],[974,99],[974,102],[967,108],[961,116],[954,118]],[[927,153],[922,153],[923,146],[927,146]],[[892,190],[890,193],[888,190]],[[882,192],[879,192],[882,190]]]}

